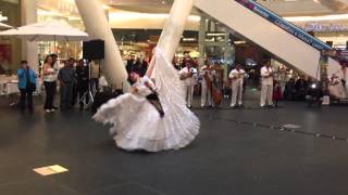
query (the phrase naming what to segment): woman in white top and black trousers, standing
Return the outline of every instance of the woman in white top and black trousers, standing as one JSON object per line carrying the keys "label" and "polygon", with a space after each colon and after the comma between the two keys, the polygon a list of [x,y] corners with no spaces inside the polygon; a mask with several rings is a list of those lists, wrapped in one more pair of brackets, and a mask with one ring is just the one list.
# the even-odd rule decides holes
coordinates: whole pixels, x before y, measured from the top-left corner
{"label": "woman in white top and black trousers, standing", "polygon": [[53,58],[48,55],[45,60],[42,67],[44,86],[46,90],[46,101],[44,108],[46,113],[54,112],[54,94],[57,89],[57,70],[53,67]]}

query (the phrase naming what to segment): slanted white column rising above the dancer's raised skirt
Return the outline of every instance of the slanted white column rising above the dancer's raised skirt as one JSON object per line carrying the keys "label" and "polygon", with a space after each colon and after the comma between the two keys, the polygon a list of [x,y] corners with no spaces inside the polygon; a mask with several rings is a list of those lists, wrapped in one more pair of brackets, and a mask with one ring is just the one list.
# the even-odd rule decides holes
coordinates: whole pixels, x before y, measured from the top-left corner
{"label": "slanted white column rising above the dancer's raised skirt", "polygon": [[194,0],[175,0],[173,3],[170,17],[158,43],[169,62],[172,62],[174,57],[192,6]]}

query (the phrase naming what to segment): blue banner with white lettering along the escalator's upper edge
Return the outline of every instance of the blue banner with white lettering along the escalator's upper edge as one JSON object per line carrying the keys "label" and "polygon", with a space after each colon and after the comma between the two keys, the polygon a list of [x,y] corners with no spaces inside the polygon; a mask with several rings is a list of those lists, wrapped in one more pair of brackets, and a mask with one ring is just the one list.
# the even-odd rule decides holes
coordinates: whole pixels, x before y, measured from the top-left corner
{"label": "blue banner with white lettering along the escalator's upper edge", "polygon": [[297,37],[298,39],[302,40],[303,42],[310,44],[311,47],[315,48],[319,51],[323,50],[332,50],[330,46],[322,42],[321,40],[316,39],[315,37],[309,35],[303,29],[297,27],[296,25],[285,21],[283,17],[276,15],[275,13],[271,12],[270,10],[263,8],[261,4],[252,1],[252,0],[235,0],[239,4],[244,5],[245,8],[249,9],[253,13],[260,15],[261,17],[268,20],[269,22],[273,23],[274,25],[278,26],[279,28],[284,29],[285,31],[291,34],[293,36]]}

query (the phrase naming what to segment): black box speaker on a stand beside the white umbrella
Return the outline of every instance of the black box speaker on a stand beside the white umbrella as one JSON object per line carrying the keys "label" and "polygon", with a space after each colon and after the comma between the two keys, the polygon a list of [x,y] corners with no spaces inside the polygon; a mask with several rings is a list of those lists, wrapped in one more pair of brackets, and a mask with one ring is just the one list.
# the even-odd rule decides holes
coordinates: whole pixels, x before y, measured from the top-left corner
{"label": "black box speaker on a stand beside the white umbrella", "polygon": [[104,58],[104,41],[91,40],[84,41],[83,43],[84,58],[87,60],[101,60]]}

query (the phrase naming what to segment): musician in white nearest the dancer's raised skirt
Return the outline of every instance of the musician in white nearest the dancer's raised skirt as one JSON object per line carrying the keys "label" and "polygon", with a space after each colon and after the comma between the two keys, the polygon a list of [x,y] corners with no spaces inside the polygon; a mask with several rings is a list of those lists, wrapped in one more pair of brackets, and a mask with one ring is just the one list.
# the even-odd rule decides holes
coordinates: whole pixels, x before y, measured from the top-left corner
{"label": "musician in white nearest the dancer's raised skirt", "polygon": [[185,67],[181,69],[179,76],[181,80],[185,84],[185,100],[187,107],[191,107],[191,102],[194,98],[194,89],[197,83],[197,69],[192,67],[190,61],[185,61]]}

